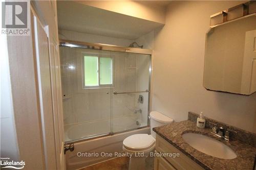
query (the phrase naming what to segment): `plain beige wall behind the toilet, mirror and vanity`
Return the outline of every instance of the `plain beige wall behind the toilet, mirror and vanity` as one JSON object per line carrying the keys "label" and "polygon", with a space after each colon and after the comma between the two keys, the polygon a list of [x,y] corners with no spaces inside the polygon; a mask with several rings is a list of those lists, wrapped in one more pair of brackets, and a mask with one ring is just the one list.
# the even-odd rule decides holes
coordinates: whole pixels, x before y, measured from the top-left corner
{"label": "plain beige wall behind the toilet, mirror and vanity", "polygon": [[256,132],[256,93],[246,96],[203,87],[205,33],[211,14],[242,2],[179,1],[166,10],[165,26],[155,32],[152,109],[176,122],[187,112]]}

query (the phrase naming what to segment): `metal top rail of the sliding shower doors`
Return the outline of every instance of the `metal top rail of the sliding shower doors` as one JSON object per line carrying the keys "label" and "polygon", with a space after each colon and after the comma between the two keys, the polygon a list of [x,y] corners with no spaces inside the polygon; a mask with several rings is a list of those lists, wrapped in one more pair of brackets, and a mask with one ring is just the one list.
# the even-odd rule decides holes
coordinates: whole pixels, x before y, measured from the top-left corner
{"label": "metal top rail of the sliding shower doors", "polygon": [[69,47],[77,47],[77,48],[87,48],[92,50],[105,50],[105,51],[114,51],[114,52],[126,52],[126,53],[152,55],[152,50],[144,49],[144,48],[125,47],[125,46],[109,45],[109,44],[101,44],[101,43],[90,43],[90,42],[73,41],[73,40],[67,40],[67,39],[59,39],[59,46],[69,46]]}

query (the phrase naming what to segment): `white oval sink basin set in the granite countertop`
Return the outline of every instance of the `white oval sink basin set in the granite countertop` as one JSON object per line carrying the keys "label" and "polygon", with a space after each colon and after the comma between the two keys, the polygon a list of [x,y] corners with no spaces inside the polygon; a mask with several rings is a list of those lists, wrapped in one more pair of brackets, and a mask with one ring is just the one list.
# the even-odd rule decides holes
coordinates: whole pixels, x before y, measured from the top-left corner
{"label": "white oval sink basin set in the granite countertop", "polygon": [[197,133],[185,133],[182,138],[191,147],[207,155],[222,159],[234,159],[237,157],[236,153],[227,145],[214,138]]}

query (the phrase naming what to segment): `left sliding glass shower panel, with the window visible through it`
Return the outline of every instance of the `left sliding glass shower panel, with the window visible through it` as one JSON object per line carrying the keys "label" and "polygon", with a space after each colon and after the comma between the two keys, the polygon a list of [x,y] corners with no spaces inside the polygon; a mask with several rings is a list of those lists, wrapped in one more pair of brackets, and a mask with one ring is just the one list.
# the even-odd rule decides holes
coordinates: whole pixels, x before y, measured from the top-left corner
{"label": "left sliding glass shower panel, with the window visible through it", "polygon": [[110,52],[60,46],[60,62],[66,141],[110,134]]}

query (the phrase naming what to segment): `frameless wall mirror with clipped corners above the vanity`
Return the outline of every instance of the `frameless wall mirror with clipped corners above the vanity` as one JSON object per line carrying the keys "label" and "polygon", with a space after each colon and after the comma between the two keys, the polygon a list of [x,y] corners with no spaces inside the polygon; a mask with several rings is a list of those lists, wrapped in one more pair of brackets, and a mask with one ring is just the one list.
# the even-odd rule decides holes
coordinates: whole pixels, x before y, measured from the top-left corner
{"label": "frameless wall mirror with clipped corners above the vanity", "polygon": [[256,91],[256,15],[212,27],[206,34],[203,85],[239,94]]}

